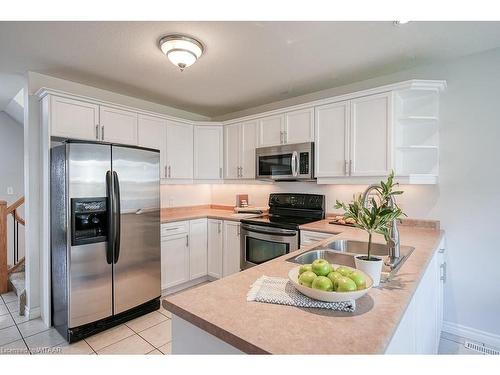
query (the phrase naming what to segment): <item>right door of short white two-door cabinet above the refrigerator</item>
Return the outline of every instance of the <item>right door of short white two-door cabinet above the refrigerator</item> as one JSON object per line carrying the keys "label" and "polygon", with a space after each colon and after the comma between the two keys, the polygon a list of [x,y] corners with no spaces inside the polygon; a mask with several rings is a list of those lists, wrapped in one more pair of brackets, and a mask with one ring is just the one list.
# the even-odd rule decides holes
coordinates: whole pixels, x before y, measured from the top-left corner
{"label": "right door of short white two-door cabinet above the refrigerator", "polygon": [[137,113],[104,106],[99,109],[101,140],[137,144]]}

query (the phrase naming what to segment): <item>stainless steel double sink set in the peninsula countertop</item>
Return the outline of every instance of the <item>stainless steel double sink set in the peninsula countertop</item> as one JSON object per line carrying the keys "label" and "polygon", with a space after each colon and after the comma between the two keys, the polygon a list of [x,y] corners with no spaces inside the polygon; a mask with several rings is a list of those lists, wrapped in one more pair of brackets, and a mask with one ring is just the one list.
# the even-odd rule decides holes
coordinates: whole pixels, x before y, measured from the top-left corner
{"label": "stainless steel double sink set in the peninsula countertop", "polygon": [[[288,258],[287,261],[297,264],[309,264],[316,259],[325,259],[333,264],[340,264],[349,267],[355,267],[354,257],[357,255],[366,255],[368,250],[368,242],[351,241],[351,240],[335,240],[326,245],[321,245],[306,251],[300,255]],[[408,259],[411,253],[415,250],[411,246],[400,246],[400,257],[395,260],[392,266],[388,266],[384,262],[382,268],[383,279],[394,276],[403,263]],[[384,261],[389,255],[389,248],[385,244],[372,243],[371,255],[380,256]]]}

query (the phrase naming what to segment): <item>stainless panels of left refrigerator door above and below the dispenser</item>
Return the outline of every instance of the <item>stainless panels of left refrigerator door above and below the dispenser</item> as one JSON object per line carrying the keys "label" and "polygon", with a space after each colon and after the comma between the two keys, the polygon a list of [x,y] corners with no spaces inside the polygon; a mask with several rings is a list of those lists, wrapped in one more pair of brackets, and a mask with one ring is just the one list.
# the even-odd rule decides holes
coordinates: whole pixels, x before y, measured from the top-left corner
{"label": "stainless panels of left refrigerator door above and below the dispenser", "polygon": [[[70,143],[67,147],[68,207],[72,198],[106,197],[111,146]],[[72,228],[71,215],[68,218],[68,228]],[[106,261],[106,254],[107,242],[70,247],[69,328],[113,314],[113,269]]]}

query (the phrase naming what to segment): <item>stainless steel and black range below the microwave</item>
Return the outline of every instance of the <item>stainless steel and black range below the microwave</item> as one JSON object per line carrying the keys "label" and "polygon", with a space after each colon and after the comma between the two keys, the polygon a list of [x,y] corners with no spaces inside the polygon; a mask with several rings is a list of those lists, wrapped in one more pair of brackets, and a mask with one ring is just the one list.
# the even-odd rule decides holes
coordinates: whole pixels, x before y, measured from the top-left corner
{"label": "stainless steel and black range below the microwave", "polygon": [[241,220],[241,269],[299,248],[299,226],[325,218],[325,196],[274,193],[269,214]]}

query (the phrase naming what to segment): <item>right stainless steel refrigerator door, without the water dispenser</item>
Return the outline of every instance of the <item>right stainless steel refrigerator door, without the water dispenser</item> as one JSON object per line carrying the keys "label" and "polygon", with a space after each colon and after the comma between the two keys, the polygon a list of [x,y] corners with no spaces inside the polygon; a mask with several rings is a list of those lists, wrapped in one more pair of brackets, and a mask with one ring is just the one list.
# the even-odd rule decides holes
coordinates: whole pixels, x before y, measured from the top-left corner
{"label": "right stainless steel refrigerator door, without the water dispenser", "polygon": [[114,254],[119,314],[161,295],[160,153],[113,146],[112,165],[121,210]]}

